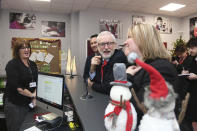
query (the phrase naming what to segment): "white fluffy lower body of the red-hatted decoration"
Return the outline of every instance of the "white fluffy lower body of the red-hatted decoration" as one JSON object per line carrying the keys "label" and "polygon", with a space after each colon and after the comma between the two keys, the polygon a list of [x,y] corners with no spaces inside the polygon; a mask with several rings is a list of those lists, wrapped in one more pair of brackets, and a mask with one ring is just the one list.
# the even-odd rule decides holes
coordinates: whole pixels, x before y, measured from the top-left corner
{"label": "white fluffy lower body of the red-hatted decoration", "polygon": [[148,113],[142,117],[139,131],[180,131],[176,118],[166,119],[152,117]]}

